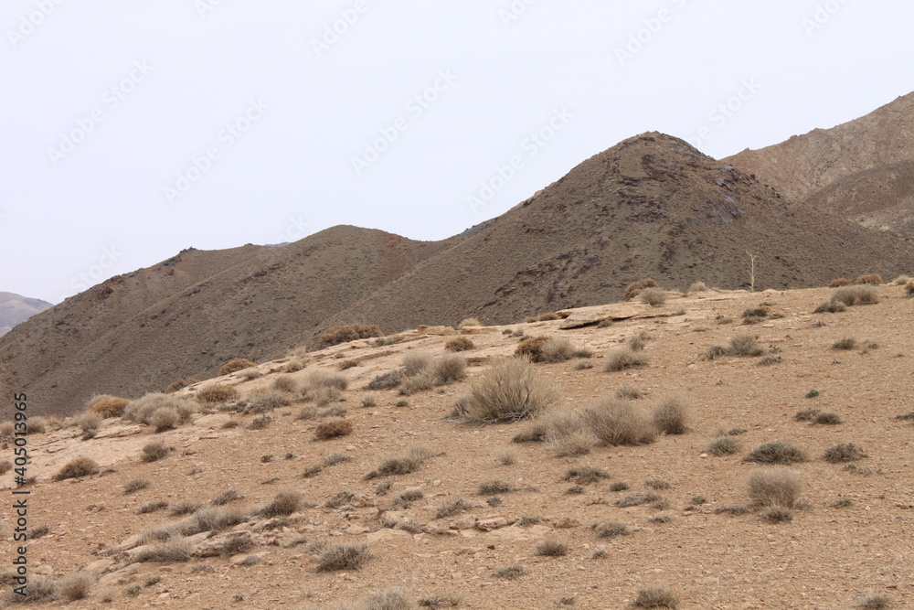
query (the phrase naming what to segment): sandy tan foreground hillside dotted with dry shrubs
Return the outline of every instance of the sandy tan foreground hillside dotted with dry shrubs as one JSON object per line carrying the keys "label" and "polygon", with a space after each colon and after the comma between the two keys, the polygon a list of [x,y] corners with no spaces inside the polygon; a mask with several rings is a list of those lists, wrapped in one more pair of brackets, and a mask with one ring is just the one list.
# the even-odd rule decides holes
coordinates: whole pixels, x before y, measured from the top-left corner
{"label": "sandy tan foreground hillside dotted with dry shrubs", "polygon": [[702,288],[37,419],[31,607],[914,607],[914,283]]}

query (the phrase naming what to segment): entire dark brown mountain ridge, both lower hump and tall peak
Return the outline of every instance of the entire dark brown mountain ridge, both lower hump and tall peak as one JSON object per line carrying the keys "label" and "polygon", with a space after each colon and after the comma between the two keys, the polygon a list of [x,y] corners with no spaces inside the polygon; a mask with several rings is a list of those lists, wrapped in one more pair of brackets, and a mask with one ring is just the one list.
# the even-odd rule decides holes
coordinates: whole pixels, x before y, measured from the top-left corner
{"label": "entire dark brown mountain ridge, both lower hump and tall peak", "polygon": [[0,337],[0,381],[76,412],[95,392],[137,396],[282,357],[335,322],[397,332],[467,316],[509,324],[619,300],[654,277],[757,288],[914,268],[910,240],[795,203],[682,140],[643,134],[535,197],[445,241],[335,227],[282,247],[184,251],[113,278]]}

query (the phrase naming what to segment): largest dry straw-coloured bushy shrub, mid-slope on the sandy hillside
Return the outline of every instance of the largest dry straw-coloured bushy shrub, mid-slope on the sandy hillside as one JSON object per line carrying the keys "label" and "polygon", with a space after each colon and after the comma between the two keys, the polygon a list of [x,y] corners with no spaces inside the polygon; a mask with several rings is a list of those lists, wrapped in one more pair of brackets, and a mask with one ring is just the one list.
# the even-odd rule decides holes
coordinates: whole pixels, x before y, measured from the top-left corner
{"label": "largest dry straw-coloured bushy shrub, mid-slope on the sandy hillside", "polygon": [[558,392],[527,359],[497,359],[486,374],[474,380],[461,413],[478,423],[516,422],[546,411],[558,401]]}

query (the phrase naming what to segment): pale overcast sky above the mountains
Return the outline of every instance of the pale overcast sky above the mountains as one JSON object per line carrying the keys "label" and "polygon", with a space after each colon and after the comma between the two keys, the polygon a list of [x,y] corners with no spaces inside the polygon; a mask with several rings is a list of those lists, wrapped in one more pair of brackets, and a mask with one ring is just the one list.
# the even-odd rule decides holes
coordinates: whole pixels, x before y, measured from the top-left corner
{"label": "pale overcast sky above the mountains", "polygon": [[914,91],[907,0],[4,0],[0,292],[337,224],[440,240],[659,131],[721,158]]}

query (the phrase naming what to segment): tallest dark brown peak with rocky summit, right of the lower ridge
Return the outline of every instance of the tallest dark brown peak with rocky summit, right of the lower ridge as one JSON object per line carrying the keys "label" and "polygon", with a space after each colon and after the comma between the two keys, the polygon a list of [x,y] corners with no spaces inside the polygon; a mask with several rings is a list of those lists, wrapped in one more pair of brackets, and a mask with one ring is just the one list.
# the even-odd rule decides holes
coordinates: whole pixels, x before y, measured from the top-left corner
{"label": "tallest dark brown peak with rocky summit, right of the lower ridge", "polygon": [[797,205],[663,134],[595,155],[537,197],[423,262],[336,319],[387,329],[479,316],[507,324],[617,300],[654,277],[749,287],[822,285],[914,268],[909,240]]}

